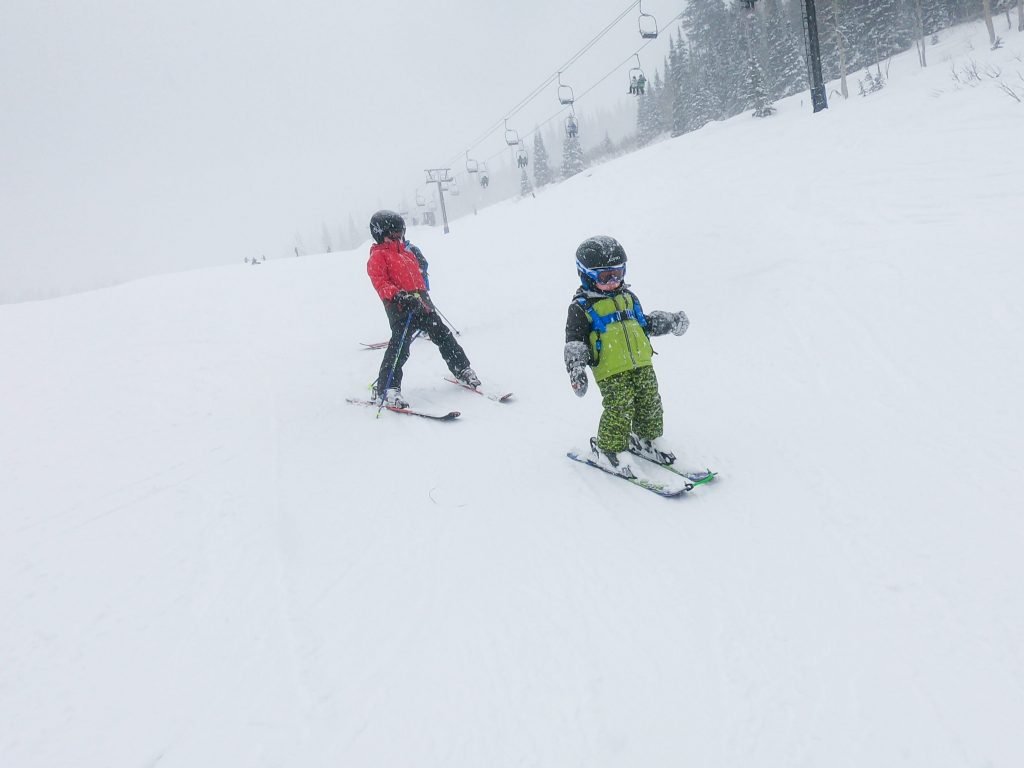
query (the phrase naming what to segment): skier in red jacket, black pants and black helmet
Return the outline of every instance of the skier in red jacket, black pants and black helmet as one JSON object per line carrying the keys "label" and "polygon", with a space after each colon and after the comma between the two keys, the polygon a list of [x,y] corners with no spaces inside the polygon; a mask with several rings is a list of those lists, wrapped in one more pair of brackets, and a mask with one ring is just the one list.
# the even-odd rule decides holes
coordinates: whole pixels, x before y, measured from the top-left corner
{"label": "skier in red jacket, black pants and black helmet", "polygon": [[374,385],[374,399],[391,408],[409,408],[401,396],[401,369],[409,359],[410,342],[417,331],[425,333],[437,345],[456,379],[467,386],[480,386],[465,350],[430,301],[426,259],[419,249],[406,243],[406,220],[394,211],[378,211],[370,218],[370,233],[374,245],[370,247],[367,273],[384,302],[391,327],[391,341]]}

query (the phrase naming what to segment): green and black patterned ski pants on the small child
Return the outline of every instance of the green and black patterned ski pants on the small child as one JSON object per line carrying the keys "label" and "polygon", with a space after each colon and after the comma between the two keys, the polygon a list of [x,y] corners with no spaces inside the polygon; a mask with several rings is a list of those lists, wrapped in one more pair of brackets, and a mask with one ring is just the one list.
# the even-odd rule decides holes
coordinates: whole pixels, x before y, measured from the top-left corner
{"label": "green and black patterned ski pants on the small child", "polygon": [[597,446],[601,451],[617,454],[628,450],[630,432],[650,439],[662,436],[662,395],[653,368],[624,371],[597,382],[597,386],[604,406],[597,428]]}

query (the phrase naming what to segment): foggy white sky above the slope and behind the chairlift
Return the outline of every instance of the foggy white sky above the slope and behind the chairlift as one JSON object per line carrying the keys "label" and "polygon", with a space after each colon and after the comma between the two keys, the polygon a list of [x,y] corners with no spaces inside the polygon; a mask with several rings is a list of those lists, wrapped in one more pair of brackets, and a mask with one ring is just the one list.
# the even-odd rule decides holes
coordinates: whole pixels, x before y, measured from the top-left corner
{"label": "foggy white sky above the slope and behind the chairlift", "polygon": [[[361,226],[630,4],[6,0],[0,301],[280,256],[349,213]],[[664,25],[681,5],[643,7]],[[642,45],[636,15],[566,70],[578,94]],[[641,54],[648,72],[667,48]],[[579,111],[621,99],[626,69]],[[512,124],[558,110],[551,86]],[[503,146],[498,131],[474,156]]]}

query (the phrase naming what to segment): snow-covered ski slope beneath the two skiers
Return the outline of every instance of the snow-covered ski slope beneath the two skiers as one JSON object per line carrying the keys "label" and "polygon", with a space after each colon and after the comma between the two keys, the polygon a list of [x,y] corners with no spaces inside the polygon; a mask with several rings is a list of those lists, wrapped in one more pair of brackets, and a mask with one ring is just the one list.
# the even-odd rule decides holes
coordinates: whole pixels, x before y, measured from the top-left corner
{"label": "snow-covered ski slope beneath the two skiers", "polygon": [[[366,251],[0,307],[0,765],[1024,765],[1024,35],[945,34],[413,230],[498,404],[345,403]],[[1021,92],[1021,89],[1019,89]],[[564,458],[572,254],[617,238],[663,500]]]}

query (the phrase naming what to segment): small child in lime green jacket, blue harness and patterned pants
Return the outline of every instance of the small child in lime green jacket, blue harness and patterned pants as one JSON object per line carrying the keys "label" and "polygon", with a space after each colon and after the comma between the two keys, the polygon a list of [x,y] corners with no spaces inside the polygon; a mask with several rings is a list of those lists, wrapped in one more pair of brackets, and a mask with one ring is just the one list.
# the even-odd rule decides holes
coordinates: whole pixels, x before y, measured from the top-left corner
{"label": "small child in lime green jacket, blue harness and patterned pants", "polygon": [[588,238],[577,249],[580,289],[565,322],[565,370],[572,390],[587,393],[587,367],[601,391],[604,413],[594,460],[606,469],[637,476],[631,454],[659,464],[675,455],[662,437],[662,396],[649,336],[682,336],[690,322],[683,311],[644,312],[626,278],[626,251],[614,238]]}

